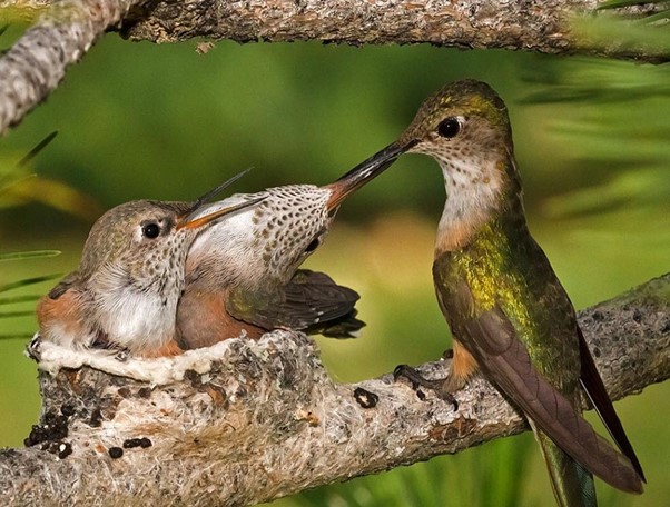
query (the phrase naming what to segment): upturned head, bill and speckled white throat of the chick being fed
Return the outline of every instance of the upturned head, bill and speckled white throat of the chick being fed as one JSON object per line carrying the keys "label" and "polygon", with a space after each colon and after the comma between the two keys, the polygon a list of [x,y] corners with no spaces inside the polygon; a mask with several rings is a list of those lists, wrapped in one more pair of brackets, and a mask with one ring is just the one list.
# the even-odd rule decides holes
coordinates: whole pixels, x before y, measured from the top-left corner
{"label": "upturned head, bill and speckled white throat of the chick being fed", "polygon": [[253,210],[198,236],[187,258],[187,285],[255,290],[287,282],[322,245],[342,201],[383,172],[402,151],[388,147],[323,187],[287,185],[211,203],[210,210],[263,199]]}

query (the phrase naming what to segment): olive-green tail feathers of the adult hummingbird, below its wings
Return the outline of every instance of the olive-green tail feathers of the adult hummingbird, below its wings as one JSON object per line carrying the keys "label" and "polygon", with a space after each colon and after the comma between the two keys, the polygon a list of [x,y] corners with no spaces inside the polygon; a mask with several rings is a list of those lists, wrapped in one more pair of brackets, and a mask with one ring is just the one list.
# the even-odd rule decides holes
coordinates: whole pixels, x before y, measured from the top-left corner
{"label": "olive-green tail feathers of the adult hummingbird, below its wings", "polygon": [[597,507],[591,473],[532,426],[549,469],[551,487],[559,507]]}

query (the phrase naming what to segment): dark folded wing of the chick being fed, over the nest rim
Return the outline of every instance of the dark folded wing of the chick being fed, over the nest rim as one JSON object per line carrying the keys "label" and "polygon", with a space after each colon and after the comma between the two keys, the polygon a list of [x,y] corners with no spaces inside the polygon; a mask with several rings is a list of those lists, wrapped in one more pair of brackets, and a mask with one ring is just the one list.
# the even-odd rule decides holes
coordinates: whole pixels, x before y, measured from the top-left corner
{"label": "dark folded wing of the chick being fed, over the nest rim", "polygon": [[364,324],[355,319],[358,294],[323,272],[300,269],[283,287],[259,295],[237,291],[227,309],[235,318],[265,329],[286,328],[354,337]]}

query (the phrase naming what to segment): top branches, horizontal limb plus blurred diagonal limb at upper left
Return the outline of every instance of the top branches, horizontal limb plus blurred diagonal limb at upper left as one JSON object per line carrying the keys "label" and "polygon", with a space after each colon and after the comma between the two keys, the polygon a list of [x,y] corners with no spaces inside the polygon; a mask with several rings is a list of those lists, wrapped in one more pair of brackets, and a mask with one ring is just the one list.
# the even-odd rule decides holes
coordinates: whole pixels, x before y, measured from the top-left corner
{"label": "top branches, horizontal limb plus blurred diagonal limb at upper left", "polygon": [[[112,27],[132,40],[155,42],[194,37],[240,42],[428,42],[668,59],[666,49],[631,49],[620,39],[595,42],[577,33],[571,21],[594,16],[598,4],[598,0],[0,0],[0,9],[40,12],[35,27],[0,58],[0,135],[41,102],[67,67]],[[650,9],[632,7],[618,13],[635,17]]]}

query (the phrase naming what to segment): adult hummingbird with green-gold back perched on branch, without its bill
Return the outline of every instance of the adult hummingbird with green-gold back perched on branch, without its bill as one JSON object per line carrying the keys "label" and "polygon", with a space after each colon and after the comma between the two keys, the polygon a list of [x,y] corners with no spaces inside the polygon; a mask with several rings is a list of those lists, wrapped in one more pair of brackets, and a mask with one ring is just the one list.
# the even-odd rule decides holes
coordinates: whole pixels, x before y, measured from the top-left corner
{"label": "adult hummingbird with green-gold back perched on branch, without its bill", "polygon": [[[393,147],[433,157],[446,202],[433,277],[453,335],[442,392],[482,374],[526,417],[561,506],[593,506],[592,474],[629,493],[644,475],[595,369],[568,294],[531,237],[508,110],[485,83],[454,82],[428,98]],[[621,449],[580,412],[584,391]]]}

